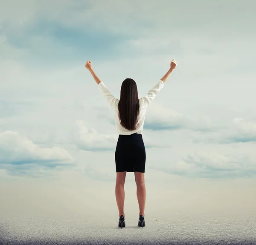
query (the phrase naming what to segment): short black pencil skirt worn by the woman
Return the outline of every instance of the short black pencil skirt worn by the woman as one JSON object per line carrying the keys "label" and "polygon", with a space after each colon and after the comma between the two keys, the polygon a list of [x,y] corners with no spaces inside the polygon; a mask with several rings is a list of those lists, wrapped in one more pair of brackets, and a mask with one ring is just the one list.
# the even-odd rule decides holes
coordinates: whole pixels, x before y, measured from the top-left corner
{"label": "short black pencil skirt worn by the woman", "polygon": [[142,135],[119,135],[115,152],[116,172],[145,173],[146,151]]}

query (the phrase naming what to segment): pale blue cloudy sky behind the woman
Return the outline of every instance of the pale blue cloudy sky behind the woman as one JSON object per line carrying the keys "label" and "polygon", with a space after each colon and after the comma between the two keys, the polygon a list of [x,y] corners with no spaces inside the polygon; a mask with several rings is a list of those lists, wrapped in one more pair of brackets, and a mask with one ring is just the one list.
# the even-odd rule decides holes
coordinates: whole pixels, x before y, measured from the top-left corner
{"label": "pale blue cloudy sky behind the woman", "polygon": [[125,78],[144,96],[175,59],[143,130],[151,193],[255,190],[255,7],[252,0],[1,3],[0,183],[113,187],[113,112],[84,64],[90,60],[119,98]]}

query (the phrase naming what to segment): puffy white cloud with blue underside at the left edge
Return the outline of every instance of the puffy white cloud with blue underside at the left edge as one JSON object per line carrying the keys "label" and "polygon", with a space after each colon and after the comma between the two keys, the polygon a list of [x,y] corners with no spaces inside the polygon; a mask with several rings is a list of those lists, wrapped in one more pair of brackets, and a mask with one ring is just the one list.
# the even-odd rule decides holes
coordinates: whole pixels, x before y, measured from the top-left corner
{"label": "puffy white cloud with blue underside at the left edge", "polygon": [[75,164],[75,159],[60,147],[41,147],[25,135],[5,131],[0,133],[0,168],[12,174],[39,174],[49,169],[60,169]]}

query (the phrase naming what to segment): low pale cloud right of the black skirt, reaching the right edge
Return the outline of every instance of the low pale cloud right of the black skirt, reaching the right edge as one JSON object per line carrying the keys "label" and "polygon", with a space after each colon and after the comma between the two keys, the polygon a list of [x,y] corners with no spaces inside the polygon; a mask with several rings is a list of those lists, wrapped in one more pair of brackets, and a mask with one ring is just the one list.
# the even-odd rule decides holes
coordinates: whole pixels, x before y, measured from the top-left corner
{"label": "low pale cloud right of the black skirt, reaching the right edge", "polygon": [[256,159],[245,154],[221,155],[202,151],[175,163],[163,162],[150,168],[188,177],[242,178],[256,176]]}

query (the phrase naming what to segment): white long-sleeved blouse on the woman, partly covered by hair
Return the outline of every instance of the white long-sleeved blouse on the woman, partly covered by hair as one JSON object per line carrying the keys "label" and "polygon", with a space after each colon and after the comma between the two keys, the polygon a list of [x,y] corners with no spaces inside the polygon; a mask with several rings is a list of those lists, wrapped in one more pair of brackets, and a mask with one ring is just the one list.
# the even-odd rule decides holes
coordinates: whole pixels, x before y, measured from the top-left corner
{"label": "white long-sleeved blouse on the woman, partly covered by hair", "polygon": [[133,133],[142,133],[144,121],[145,121],[145,113],[146,108],[151,103],[151,101],[156,97],[157,92],[159,92],[163,88],[163,81],[159,81],[152,89],[148,91],[148,94],[144,97],[140,98],[140,118],[138,121],[139,127],[136,130],[127,130],[121,126],[118,116],[118,103],[119,99],[115,98],[108,88],[105,86],[103,82],[99,83],[99,90],[102,92],[103,96],[108,100],[108,103],[114,109],[115,121],[116,121],[116,130],[118,134],[122,135],[131,135]]}

